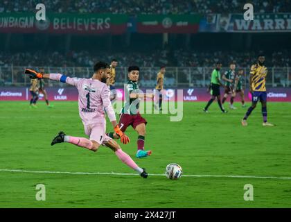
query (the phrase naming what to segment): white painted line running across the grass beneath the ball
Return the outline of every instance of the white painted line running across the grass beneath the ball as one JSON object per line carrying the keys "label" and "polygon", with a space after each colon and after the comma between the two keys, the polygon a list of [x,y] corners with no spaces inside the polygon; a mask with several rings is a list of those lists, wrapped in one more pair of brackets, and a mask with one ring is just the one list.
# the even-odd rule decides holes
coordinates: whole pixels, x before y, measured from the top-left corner
{"label": "white painted line running across the grass beneath the ball", "polygon": [[[51,174],[73,174],[73,175],[122,175],[136,176],[136,173],[101,173],[101,172],[62,172],[62,171],[26,171],[21,169],[0,169],[0,172],[13,173],[51,173]],[[149,176],[165,176],[163,173],[149,173]],[[291,177],[276,177],[276,176],[238,176],[238,175],[182,175],[183,177],[196,178],[254,178],[254,179],[275,179],[275,180],[291,180]]]}

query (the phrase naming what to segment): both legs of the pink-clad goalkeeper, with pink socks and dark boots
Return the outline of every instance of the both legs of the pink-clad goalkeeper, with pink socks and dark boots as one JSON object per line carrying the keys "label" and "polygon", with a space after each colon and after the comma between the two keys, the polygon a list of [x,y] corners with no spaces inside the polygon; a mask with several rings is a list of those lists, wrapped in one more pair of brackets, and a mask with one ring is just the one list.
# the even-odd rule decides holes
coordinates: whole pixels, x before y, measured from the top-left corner
{"label": "both legs of the pink-clad goalkeeper, with pink socks and dark boots", "polygon": [[[138,172],[141,177],[143,178],[148,177],[148,173],[145,172],[145,169],[137,166],[137,164],[132,160],[132,158],[129,155],[127,155],[127,153],[125,153],[113,139],[107,137],[106,135],[104,137],[106,138],[102,138],[101,141],[105,146],[111,148],[112,151],[114,151],[119,160],[127,164],[128,167],[134,169],[134,171]],[[94,152],[98,151],[98,148],[100,147],[100,144],[93,139],[89,140],[84,137],[72,137],[69,135],[65,135],[64,132],[60,132],[58,136],[56,136],[53,139],[53,141],[51,142],[51,146],[62,142],[75,144],[76,146],[87,148],[90,151]]]}

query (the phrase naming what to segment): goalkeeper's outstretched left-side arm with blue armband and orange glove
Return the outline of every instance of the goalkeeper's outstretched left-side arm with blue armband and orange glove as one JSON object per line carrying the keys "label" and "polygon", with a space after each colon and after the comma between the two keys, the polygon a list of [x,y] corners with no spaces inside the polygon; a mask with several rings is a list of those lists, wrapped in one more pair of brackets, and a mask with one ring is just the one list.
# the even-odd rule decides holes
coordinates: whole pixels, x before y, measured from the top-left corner
{"label": "goalkeeper's outstretched left-side arm with blue armband and orange glove", "polygon": [[71,78],[63,74],[41,74],[33,69],[26,69],[24,73],[27,74],[29,78],[39,78],[39,79],[46,78],[49,80],[67,83],[73,86],[76,86],[79,80],[78,78]]}

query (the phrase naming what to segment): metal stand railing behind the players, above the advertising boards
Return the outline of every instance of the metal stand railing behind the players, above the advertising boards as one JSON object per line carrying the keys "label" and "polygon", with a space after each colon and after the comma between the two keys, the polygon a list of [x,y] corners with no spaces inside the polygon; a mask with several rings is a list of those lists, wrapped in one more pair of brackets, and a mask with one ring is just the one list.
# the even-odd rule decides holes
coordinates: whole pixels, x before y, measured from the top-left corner
{"label": "metal stand railing behind the players, above the advertising boards", "polygon": [[[24,69],[28,67],[5,65],[0,66],[1,86],[27,86],[30,84],[28,76],[24,76]],[[39,69],[39,67],[30,67]],[[44,67],[46,73],[61,73],[72,77],[90,78],[93,70],[91,67]],[[222,67],[221,74],[228,67]],[[243,83],[248,86],[249,67],[245,69]],[[267,86],[290,87],[290,67],[269,67],[267,75]],[[212,67],[166,67],[164,80],[165,87],[206,87],[210,83]],[[159,67],[141,67],[139,84],[141,87],[155,87]],[[116,67],[116,86],[123,87],[127,81],[127,67]],[[61,86],[62,83],[49,82],[48,86]]]}

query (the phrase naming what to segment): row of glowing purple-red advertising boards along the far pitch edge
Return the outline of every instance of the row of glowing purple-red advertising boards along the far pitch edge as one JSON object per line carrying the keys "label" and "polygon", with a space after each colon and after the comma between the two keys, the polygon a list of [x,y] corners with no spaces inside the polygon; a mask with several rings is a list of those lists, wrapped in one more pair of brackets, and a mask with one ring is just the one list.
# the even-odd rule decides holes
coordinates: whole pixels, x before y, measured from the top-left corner
{"label": "row of glowing purple-red advertising boards along the far pitch edge", "polygon": [[[141,88],[146,92],[148,88]],[[149,90],[149,89],[148,89]],[[179,96],[177,90],[182,94]],[[116,89],[117,100],[123,100],[124,90]],[[74,87],[46,87],[48,100],[50,101],[78,101],[78,90]],[[223,90],[221,88],[221,94]],[[164,89],[164,100],[168,101],[185,101],[185,102],[201,102],[209,101],[210,94],[205,88],[172,88]],[[29,101],[30,92],[27,87],[0,87],[0,101]],[[245,101],[251,101],[252,95],[246,90]],[[267,100],[273,102],[291,102],[291,88],[270,88],[267,89]],[[39,94],[39,101],[44,101],[44,95]],[[240,96],[236,96],[236,102],[240,101]]]}

